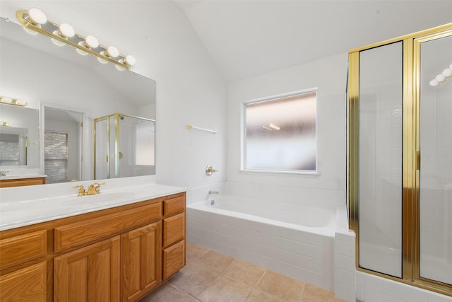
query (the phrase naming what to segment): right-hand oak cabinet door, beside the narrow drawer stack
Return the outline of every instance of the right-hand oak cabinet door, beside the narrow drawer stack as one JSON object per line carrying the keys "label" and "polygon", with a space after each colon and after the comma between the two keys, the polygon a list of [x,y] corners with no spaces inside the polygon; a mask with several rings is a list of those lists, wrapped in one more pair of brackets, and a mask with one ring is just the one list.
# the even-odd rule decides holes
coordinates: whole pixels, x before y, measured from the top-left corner
{"label": "right-hand oak cabinet door, beside the narrow drawer stack", "polygon": [[136,301],[162,281],[162,223],[121,235],[122,301]]}

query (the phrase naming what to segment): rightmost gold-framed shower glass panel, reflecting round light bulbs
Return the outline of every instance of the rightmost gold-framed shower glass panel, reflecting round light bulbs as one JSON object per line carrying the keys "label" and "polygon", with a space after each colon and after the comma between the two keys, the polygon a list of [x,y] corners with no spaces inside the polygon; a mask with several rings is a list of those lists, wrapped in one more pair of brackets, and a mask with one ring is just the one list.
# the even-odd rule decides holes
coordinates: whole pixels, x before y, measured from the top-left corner
{"label": "rightmost gold-framed shower glass panel, reflecting round light bulbs", "polygon": [[[447,69],[447,70],[446,70]],[[444,74],[443,74],[444,71]],[[434,80],[439,74],[439,80]],[[420,44],[420,277],[452,284],[452,35]]]}

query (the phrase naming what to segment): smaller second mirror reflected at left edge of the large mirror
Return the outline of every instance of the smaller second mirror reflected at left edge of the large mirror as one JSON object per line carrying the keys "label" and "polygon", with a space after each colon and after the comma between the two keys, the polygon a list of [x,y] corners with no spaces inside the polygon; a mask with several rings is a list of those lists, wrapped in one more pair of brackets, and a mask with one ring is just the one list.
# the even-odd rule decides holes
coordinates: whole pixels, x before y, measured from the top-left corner
{"label": "smaller second mirror reflected at left edge of the large mirror", "polygon": [[0,104],[0,165],[2,168],[39,166],[38,110]]}

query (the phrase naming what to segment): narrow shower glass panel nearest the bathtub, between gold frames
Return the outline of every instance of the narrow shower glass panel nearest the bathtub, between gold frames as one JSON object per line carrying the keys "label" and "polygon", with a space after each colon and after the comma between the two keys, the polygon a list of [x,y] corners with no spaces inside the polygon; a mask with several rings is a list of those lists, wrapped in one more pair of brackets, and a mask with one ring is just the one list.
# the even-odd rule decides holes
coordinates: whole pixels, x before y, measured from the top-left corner
{"label": "narrow shower glass panel nearest the bathtub, between gold frames", "polygon": [[403,43],[359,53],[359,266],[402,277]]}

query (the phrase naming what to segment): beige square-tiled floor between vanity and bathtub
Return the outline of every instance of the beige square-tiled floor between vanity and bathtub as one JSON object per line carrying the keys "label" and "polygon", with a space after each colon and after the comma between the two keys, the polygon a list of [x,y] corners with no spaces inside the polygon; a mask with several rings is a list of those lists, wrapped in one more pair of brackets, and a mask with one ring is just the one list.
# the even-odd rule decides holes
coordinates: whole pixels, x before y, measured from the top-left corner
{"label": "beige square-tiled floor between vanity and bathtub", "polygon": [[186,267],[140,302],[345,302],[331,291],[192,243]]}

